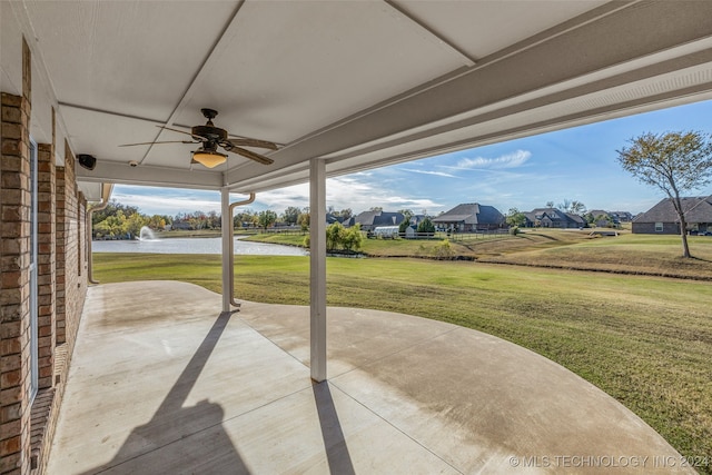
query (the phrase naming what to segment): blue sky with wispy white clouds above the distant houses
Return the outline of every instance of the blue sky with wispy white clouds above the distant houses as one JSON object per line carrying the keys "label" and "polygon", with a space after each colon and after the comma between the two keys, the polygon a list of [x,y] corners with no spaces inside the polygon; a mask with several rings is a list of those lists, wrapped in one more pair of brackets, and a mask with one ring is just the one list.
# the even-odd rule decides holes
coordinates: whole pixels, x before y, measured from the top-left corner
{"label": "blue sky with wispy white clouds above the distant houses", "polygon": [[[355,214],[380,206],[428,215],[461,202],[528,211],[547,201],[582,201],[589,209],[645,211],[662,191],[640,184],[616,161],[616,149],[643,132],[712,132],[712,101],[640,113],[589,126],[346,175],[327,180],[327,206]],[[712,188],[690,195],[710,195]],[[220,211],[217,191],[117,185],[112,198],[147,215]],[[257,195],[254,211],[309,205],[308,185]]]}

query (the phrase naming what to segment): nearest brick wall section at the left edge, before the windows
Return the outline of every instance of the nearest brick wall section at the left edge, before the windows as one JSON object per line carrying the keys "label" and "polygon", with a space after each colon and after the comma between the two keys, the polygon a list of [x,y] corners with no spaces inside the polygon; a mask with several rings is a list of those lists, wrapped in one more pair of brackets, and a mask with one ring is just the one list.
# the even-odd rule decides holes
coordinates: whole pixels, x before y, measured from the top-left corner
{"label": "nearest brick wall section at the left edge, before the windows", "polygon": [[0,473],[30,469],[30,53],[22,96],[2,93],[0,160]]}

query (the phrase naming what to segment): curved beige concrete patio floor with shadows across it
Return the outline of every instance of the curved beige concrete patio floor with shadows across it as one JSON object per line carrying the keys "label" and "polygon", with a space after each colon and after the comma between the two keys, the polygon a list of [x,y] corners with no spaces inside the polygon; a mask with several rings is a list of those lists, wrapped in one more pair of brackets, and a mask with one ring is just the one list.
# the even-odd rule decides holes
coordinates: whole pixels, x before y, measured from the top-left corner
{"label": "curved beige concrete patio floor with shadows across it", "polygon": [[400,314],[327,318],[329,379],[313,384],[307,307],[230,315],[190,284],[91,287],[48,473],[684,472],[637,416],[530,350]]}

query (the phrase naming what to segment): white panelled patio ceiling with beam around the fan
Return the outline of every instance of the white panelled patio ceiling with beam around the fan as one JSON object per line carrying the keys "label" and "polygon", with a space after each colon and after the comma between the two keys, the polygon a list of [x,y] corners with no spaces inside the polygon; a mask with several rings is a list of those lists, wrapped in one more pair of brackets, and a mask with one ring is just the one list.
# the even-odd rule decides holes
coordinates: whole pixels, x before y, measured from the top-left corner
{"label": "white panelled patio ceiling with beam around the fan", "polygon": [[[2,2],[2,90],[32,50],[32,133],[85,184],[259,191],[712,97],[712,2]],[[20,56],[21,58],[21,56]],[[21,61],[20,61],[21,63]],[[190,166],[205,123],[270,140],[263,166]],[[49,133],[51,137],[51,133]],[[63,155],[58,147],[58,160]],[[136,160],[138,167],[129,167]],[[86,187],[89,197],[98,197]]]}

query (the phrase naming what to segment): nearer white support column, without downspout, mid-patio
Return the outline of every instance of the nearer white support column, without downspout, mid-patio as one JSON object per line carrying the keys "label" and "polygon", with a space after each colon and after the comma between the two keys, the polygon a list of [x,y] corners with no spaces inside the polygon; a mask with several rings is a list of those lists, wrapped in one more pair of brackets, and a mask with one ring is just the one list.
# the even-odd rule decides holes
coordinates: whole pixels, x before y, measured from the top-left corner
{"label": "nearer white support column, without downspout, mid-patio", "polygon": [[312,379],[326,379],[326,164],[309,164],[309,301]]}

